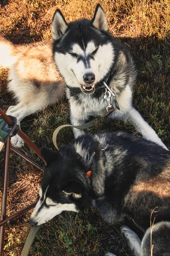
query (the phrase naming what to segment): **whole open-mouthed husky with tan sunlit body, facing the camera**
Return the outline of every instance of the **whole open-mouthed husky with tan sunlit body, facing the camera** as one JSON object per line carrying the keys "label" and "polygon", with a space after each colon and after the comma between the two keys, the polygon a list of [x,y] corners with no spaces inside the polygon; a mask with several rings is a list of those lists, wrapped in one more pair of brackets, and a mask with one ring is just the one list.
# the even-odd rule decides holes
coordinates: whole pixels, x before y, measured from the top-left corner
{"label": "whole open-mouthed husky with tan sunlit body, facing the camera", "polygon": [[[11,65],[8,87],[19,100],[17,106],[8,109],[8,114],[20,122],[26,115],[57,102],[64,90],[62,76],[67,85],[72,124],[82,125],[89,116],[104,115],[108,107],[114,106],[110,118],[130,120],[145,139],[166,148],[132,105],[136,78],[133,60],[108,31],[105,13],[99,4],[92,20],[71,23],[67,23],[57,9],[52,21],[52,37],[58,71],[52,60],[51,42],[14,46],[1,38],[0,64]],[[82,133],[74,129],[75,137]],[[21,145],[19,137],[13,137],[12,142]]]}

